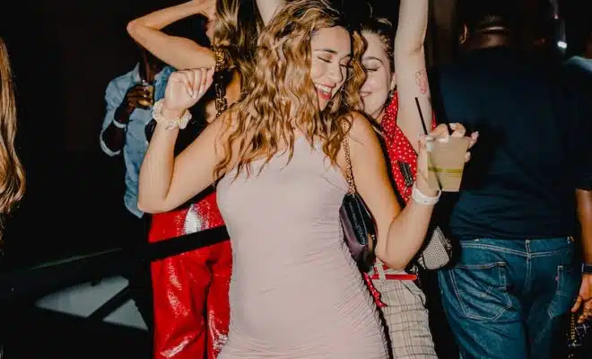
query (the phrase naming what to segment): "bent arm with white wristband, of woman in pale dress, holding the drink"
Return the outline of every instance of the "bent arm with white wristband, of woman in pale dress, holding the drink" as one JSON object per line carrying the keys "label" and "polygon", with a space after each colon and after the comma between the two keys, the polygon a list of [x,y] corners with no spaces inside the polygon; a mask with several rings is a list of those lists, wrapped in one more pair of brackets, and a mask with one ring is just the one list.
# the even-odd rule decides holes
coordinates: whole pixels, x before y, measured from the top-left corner
{"label": "bent arm with white wristband, of woman in pale dress, holding the drink", "polygon": [[[412,200],[401,211],[378,137],[366,118],[354,119],[350,148],[356,188],[377,224],[376,255],[388,267],[404,269],[422,247],[434,206]],[[436,195],[422,180],[417,186],[427,196]]]}

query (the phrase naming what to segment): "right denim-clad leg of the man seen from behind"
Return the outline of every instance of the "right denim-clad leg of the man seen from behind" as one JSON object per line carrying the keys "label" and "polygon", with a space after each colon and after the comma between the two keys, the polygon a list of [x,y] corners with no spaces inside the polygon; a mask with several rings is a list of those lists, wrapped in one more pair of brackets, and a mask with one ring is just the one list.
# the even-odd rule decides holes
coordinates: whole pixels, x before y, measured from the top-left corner
{"label": "right denim-clad leg of the man seen from behind", "polygon": [[[553,359],[562,355],[563,330],[581,284],[575,244],[571,238],[527,241],[532,261],[527,311],[528,338],[532,357]],[[559,350],[559,352],[558,352]]]}

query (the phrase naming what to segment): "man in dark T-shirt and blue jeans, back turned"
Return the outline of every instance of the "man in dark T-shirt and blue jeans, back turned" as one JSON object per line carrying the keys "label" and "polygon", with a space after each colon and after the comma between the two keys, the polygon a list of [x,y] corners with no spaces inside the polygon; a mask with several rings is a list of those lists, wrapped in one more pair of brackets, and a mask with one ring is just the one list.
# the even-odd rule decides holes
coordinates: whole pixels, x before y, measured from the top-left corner
{"label": "man in dark T-shirt and blue jeans, back turned", "polygon": [[439,273],[442,302],[464,359],[553,358],[582,283],[575,193],[592,188],[589,132],[561,66],[518,51],[502,1],[478,3],[466,53],[434,86],[437,118],[480,135],[461,192],[443,198],[459,257]]}

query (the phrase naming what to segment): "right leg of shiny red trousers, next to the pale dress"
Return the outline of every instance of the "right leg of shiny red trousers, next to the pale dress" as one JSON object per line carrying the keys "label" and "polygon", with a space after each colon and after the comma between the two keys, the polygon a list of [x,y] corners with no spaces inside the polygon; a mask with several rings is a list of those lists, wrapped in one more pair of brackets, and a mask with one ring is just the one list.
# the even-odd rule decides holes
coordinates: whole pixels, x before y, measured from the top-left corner
{"label": "right leg of shiny red trousers, next to the pale dress", "polygon": [[215,359],[228,338],[231,309],[228,298],[232,273],[231,241],[212,246],[212,283],[206,299],[207,357]]}

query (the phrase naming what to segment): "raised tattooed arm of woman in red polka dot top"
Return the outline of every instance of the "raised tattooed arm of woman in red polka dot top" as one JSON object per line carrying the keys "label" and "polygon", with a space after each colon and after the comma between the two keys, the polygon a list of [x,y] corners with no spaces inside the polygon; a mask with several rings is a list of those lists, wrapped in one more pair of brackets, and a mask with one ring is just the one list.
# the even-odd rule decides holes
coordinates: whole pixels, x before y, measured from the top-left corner
{"label": "raised tattooed arm of woman in red polka dot top", "polygon": [[418,134],[423,134],[422,120],[415,98],[422,108],[423,121],[431,130],[431,99],[425,66],[424,41],[428,27],[428,0],[401,0],[395,37],[396,88],[399,110],[396,123],[417,152]]}

